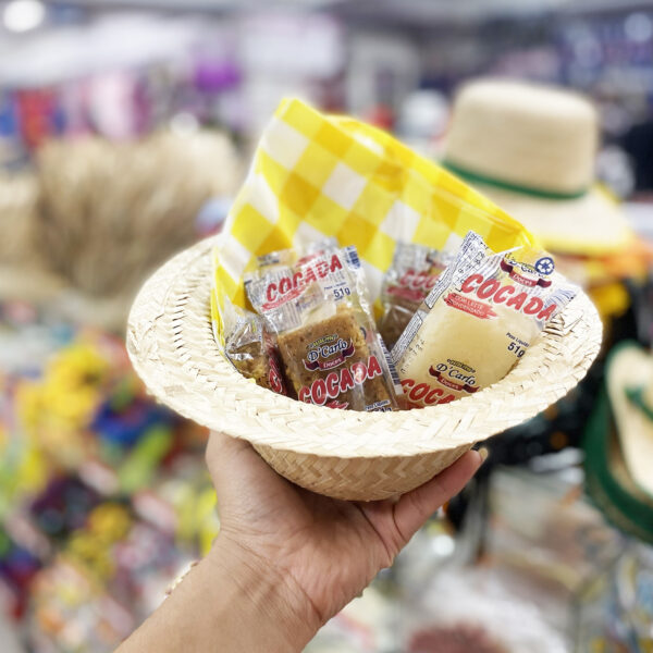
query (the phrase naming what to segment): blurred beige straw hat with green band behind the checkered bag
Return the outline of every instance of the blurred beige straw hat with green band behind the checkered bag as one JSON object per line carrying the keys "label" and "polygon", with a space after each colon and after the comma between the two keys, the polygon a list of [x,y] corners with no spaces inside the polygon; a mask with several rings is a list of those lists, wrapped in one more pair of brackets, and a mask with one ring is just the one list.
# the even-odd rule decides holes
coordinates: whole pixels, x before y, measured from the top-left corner
{"label": "blurred beige straw hat with green band behind the checkered bag", "polygon": [[482,79],[454,102],[445,164],[549,249],[600,256],[632,235],[619,207],[594,186],[597,140],[596,111],[583,97]]}

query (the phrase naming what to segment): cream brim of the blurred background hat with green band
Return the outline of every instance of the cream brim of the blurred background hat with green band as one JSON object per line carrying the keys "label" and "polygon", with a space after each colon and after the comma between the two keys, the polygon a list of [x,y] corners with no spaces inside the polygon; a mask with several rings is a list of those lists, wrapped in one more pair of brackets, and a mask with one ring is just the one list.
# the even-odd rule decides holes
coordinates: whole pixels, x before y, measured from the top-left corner
{"label": "cream brim of the blurred background hat with green band", "polygon": [[546,199],[489,184],[475,186],[552,251],[603,256],[624,249],[633,238],[624,211],[599,188],[576,199]]}

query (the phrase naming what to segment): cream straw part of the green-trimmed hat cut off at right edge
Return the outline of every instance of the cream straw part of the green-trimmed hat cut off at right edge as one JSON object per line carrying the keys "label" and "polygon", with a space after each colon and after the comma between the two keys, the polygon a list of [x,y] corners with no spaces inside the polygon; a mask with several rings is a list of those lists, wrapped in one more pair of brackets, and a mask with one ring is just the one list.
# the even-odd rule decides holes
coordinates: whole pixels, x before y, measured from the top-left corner
{"label": "cream straw part of the green-trimmed hat cut off at right edge", "polygon": [[615,415],[624,459],[634,483],[653,497],[653,421],[633,406],[626,391],[653,383],[653,359],[640,346],[624,344],[607,370],[607,392]]}

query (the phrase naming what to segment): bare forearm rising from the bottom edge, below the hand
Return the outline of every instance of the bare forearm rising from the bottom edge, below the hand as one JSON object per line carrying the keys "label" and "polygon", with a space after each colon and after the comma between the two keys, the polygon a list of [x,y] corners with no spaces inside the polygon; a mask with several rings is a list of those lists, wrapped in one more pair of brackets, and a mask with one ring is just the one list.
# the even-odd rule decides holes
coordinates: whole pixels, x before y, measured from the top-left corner
{"label": "bare forearm rising from the bottom edge, below the hand", "polygon": [[116,653],[299,653],[318,625],[275,570],[219,538]]}

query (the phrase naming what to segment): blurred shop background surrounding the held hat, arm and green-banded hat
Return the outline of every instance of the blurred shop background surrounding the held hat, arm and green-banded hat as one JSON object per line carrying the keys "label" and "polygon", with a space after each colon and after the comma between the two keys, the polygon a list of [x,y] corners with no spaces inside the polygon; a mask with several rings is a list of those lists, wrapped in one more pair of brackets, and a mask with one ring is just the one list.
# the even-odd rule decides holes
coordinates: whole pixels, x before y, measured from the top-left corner
{"label": "blurred shop background surrounding the held hat, arm and green-banded hat", "polygon": [[[562,260],[600,308],[604,352],[558,405],[491,441],[478,479],[308,651],[653,651],[653,458],[637,478],[624,447],[638,445],[605,393],[611,350],[651,345],[653,2],[12,0],[3,653],[113,650],[219,531],[206,433],[146,396],[124,328],[147,275],[220,231],[280,99],[354,114],[438,159],[457,88],[482,76],[597,108],[596,182],[637,237]],[[638,436],[651,451],[653,427]]]}

